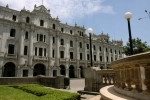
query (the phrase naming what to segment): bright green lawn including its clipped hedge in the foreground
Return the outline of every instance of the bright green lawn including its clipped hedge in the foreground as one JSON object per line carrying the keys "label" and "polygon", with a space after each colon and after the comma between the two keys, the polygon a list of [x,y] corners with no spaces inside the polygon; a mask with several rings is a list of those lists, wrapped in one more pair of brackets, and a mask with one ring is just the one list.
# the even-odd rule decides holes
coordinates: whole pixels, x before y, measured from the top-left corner
{"label": "bright green lawn including its clipped hedge in the foreground", "polygon": [[0,85],[0,100],[80,100],[76,93],[45,88],[38,84]]}

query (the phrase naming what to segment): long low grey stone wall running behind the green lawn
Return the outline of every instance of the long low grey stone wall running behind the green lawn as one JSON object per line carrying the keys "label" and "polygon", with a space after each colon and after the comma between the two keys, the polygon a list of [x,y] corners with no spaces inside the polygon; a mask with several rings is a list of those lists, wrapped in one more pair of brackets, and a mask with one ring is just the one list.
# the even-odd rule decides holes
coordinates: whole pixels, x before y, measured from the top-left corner
{"label": "long low grey stone wall running behind the green lawn", "polygon": [[64,76],[47,77],[1,77],[0,85],[41,84],[47,87],[64,88]]}

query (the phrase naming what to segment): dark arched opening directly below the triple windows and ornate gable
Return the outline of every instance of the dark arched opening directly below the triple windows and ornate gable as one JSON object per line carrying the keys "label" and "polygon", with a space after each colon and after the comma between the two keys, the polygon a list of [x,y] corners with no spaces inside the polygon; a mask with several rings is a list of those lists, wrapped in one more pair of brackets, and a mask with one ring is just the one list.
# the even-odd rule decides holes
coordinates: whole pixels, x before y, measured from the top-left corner
{"label": "dark arched opening directly below the triple windows and ornate gable", "polygon": [[34,69],[33,69],[33,76],[37,76],[37,75],[45,75],[45,71],[46,71],[46,67],[44,64],[36,64],[34,65]]}

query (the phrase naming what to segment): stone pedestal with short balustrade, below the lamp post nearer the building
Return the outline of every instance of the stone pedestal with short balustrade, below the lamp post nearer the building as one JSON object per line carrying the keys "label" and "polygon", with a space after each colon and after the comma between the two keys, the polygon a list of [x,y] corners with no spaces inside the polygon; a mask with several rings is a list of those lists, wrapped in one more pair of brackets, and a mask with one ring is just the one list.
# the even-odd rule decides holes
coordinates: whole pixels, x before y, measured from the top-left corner
{"label": "stone pedestal with short balustrade, below the lamp post nearer the building", "polygon": [[98,67],[86,68],[85,91],[99,92],[99,89],[114,84],[115,73],[112,69],[99,69]]}

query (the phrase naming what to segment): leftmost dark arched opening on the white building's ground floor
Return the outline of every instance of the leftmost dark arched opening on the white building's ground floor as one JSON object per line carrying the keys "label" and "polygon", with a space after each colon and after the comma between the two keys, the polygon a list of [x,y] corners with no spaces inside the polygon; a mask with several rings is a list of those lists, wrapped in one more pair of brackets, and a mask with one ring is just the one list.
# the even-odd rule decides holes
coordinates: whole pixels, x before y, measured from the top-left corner
{"label": "leftmost dark arched opening on the white building's ground floor", "polygon": [[3,77],[15,77],[15,64],[12,62],[7,62],[3,67]]}

